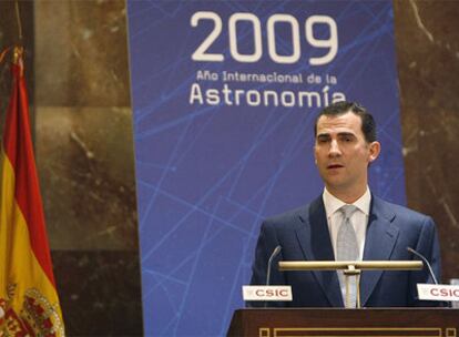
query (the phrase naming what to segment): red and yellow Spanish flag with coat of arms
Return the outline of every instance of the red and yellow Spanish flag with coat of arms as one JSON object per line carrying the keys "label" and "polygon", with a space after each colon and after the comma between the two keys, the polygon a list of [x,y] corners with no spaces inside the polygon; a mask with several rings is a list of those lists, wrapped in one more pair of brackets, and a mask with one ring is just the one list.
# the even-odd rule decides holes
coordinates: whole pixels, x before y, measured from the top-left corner
{"label": "red and yellow Spanish flag with coat of arms", "polygon": [[0,336],[64,336],[33,159],[22,49],[1,147]]}

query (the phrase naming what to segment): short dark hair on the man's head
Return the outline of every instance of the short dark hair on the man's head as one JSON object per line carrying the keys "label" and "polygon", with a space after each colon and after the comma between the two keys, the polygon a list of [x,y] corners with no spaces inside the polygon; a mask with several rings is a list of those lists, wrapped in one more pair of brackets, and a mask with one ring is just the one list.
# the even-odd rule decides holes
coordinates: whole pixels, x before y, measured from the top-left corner
{"label": "short dark hair on the man's head", "polygon": [[361,120],[361,132],[364,133],[365,140],[367,143],[375,142],[376,136],[376,123],[373,115],[360,104],[356,102],[336,102],[326,108],[324,108],[316,118],[316,123],[314,124],[314,136],[317,136],[317,122],[323,115],[327,116],[338,116],[348,112],[353,112],[358,115]]}

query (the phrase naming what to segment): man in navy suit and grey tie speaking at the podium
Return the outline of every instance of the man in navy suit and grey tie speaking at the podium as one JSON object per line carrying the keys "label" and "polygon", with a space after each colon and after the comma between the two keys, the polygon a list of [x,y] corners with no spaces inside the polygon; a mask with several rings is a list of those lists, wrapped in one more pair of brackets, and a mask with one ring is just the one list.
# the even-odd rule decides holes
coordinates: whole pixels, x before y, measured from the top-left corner
{"label": "man in navy suit and grey tie speaking at the podium", "polygon": [[[439,279],[440,252],[434,221],[385,202],[368,188],[368,166],[380,152],[371,114],[356,103],[332,104],[316,120],[315,139],[316,165],[325,183],[323,195],[262,225],[251,283],[266,283],[269,256],[280,245],[271,284],[292,285],[293,290],[293,302],[269,305],[345,306],[341,272],[279,272],[278,261],[409,261],[414,256],[407,247],[412,247],[430,262]],[[416,285],[431,282],[426,267],[415,272],[364,270],[361,306],[435,305],[417,297]],[[346,307],[355,305],[355,300],[346,303]]]}

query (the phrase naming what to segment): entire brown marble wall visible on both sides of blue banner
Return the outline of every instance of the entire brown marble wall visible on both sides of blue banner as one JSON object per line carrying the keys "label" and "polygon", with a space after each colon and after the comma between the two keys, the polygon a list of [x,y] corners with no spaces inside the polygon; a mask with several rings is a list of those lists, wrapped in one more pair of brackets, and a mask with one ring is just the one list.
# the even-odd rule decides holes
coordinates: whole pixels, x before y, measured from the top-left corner
{"label": "entire brown marble wall visible on both sides of blue banner", "polygon": [[[69,336],[142,335],[124,0],[20,2],[35,153]],[[408,204],[459,277],[459,2],[396,0]],[[0,50],[17,40],[0,1]],[[0,113],[9,67],[0,64]]]}

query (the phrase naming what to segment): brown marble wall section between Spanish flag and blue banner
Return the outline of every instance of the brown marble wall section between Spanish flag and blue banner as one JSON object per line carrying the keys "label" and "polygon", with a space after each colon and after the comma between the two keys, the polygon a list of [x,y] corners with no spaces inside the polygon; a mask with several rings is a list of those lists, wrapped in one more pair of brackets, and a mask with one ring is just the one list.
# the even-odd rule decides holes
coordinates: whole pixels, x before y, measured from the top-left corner
{"label": "brown marble wall section between Spanish flag and blue banner", "polygon": [[[123,0],[21,1],[35,160],[69,336],[141,336]],[[16,42],[0,1],[0,49]],[[9,65],[0,68],[2,119]]]}

